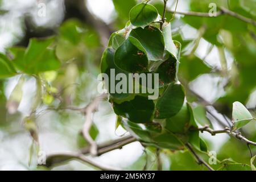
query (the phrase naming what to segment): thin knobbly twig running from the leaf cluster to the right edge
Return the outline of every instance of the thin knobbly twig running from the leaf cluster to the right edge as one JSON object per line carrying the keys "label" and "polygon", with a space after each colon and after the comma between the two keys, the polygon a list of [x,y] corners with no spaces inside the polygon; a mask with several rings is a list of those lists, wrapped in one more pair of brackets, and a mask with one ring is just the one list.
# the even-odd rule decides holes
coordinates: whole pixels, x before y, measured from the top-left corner
{"label": "thin knobbly twig running from the leaf cluster to the right edge", "polygon": [[230,133],[231,130],[228,127],[226,127],[225,129],[222,129],[222,130],[213,130],[213,129],[210,129],[209,126],[205,126],[205,127],[199,128],[198,130],[201,131],[202,133],[204,131],[207,131],[208,133],[212,134],[213,136],[216,135],[216,134],[220,134],[220,133],[226,133],[226,134],[229,134],[232,137],[235,137],[239,140],[242,140],[246,144],[251,144],[253,146],[256,146],[255,142],[252,142],[249,139],[243,137],[241,133],[236,133],[236,132]]}

